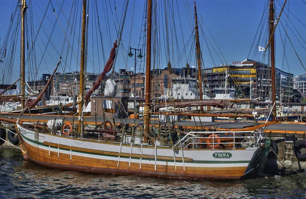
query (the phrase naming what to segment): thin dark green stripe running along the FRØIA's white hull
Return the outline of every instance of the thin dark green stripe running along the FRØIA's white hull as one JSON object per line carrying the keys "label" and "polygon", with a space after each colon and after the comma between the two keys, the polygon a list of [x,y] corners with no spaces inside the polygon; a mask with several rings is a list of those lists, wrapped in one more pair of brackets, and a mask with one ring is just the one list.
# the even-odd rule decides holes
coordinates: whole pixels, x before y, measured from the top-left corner
{"label": "thin dark green stripe running along the FR\u00d8IA's white hull", "polygon": [[[49,146],[49,145],[45,145],[41,142],[38,142],[38,141],[35,141],[35,140],[32,140],[30,138],[27,138],[23,135],[21,135],[23,139],[26,139],[28,140],[29,142],[32,142],[34,144],[38,144],[38,145],[41,145],[41,146],[45,146],[45,147],[50,147],[50,148],[55,148],[55,149],[58,149],[59,147],[55,147],[55,146]],[[68,145],[67,145],[68,146]],[[67,148],[59,148],[60,150],[63,150],[63,151],[69,151]],[[108,154],[98,154],[98,153],[90,153],[90,152],[83,152],[83,151],[78,151],[78,150],[71,150],[71,152],[77,152],[77,153],[82,153],[82,154],[89,154],[89,155],[96,155],[96,156],[106,156],[106,157],[118,157],[118,156],[115,156],[115,155],[108,155]],[[122,157],[120,156],[120,158],[125,158],[125,159],[130,159],[130,157]],[[136,159],[136,160],[140,160],[140,158],[136,158],[136,157],[131,157],[132,159]],[[154,158],[141,158],[142,160],[149,160],[149,161],[155,161]],[[158,161],[161,161],[161,162],[174,162],[174,160],[161,160],[161,159],[157,159]],[[175,162],[183,162],[183,161],[175,161]],[[239,163],[249,163],[250,161],[248,160],[237,160],[237,161],[213,161],[213,160],[193,160],[192,162],[188,162],[188,163],[194,163],[194,164],[239,164]]]}

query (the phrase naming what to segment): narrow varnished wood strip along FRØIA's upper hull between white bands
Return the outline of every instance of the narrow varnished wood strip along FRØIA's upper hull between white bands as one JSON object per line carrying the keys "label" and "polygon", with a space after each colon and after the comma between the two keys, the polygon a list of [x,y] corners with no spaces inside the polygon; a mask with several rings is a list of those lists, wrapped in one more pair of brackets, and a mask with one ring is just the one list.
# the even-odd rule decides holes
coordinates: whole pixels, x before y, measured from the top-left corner
{"label": "narrow varnished wood strip along FR\u00d8IA's upper hull between white bands", "polygon": [[[94,154],[101,154],[101,155],[111,155],[111,156],[120,156],[120,157],[132,157],[132,158],[146,158],[146,159],[155,159],[155,156],[153,155],[140,155],[140,154],[127,154],[127,153],[118,153],[118,152],[106,152],[106,151],[99,151],[99,150],[89,150],[88,148],[81,148],[81,147],[75,147],[75,146],[67,146],[63,144],[56,144],[56,143],[49,143],[44,141],[44,145],[47,146],[53,146],[53,147],[60,147],[65,148],[67,150],[73,150],[73,151],[79,151],[79,152],[86,152],[86,153],[94,153]],[[167,156],[157,156],[158,160],[168,160],[173,161],[173,157],[167,157]],[[182,161],[182,158],[175,158],[175,161]],[[185,162],[192,162],[193,159],[191,158],[184,158]]]}

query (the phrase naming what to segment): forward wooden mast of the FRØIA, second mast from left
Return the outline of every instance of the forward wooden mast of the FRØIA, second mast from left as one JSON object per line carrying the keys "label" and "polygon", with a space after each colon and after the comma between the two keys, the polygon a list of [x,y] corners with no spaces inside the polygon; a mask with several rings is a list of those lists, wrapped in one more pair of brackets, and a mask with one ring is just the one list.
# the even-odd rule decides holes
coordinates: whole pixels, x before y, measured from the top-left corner
{"label": "forward wooden mast of the FR\u00d8IA, second mast from left", "polygon": [[86,28],[86,0],[83,0],[83,16],[82,16],[82,37],[81,37],[81,66],[80,66],[80,88],[79,88],[79,126],[78,130],[82,134],[82,116],[84,104],[84,70],[85,70],[85,28]]}

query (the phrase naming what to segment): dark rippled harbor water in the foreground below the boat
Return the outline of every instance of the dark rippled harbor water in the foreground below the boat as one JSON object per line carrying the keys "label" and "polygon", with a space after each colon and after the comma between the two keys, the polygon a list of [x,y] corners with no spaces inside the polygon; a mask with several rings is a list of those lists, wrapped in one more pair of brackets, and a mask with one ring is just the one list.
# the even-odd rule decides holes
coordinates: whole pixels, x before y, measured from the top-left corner
{"label": "dark rippled harbor water in the foreground below the boat", "polygon": [[305,198],[306,173],[235,181],[192,181],[51,169],[0,147],[0,198]]}

